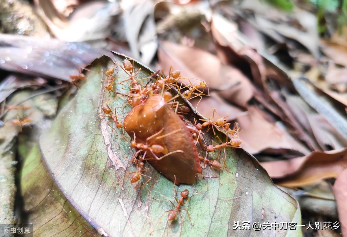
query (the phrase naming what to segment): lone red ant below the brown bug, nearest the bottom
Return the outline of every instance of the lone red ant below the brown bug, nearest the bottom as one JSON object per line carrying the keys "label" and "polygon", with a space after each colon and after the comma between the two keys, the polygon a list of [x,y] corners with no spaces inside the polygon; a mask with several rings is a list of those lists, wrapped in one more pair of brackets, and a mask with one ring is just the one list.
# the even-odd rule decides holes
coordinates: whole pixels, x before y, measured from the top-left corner
{"label": "lone red ant below the brown bug, nearest the bottom", "polygon": [[[175,176],[175,182],[176,182],[176,175]],[[179,200],[177,200],[177,197],[176,197],[176,194],[177,194],[177,191],[176,191],[176,187],[175,187],[175,182],[174,182],[174,192],[175,192],[175,200],[176,200],[176,203],[177,205],[175,205],[171,200],[169,199],[156,199],[155,197],[153,197],[153,199],[157,200],[157,201],[169,201],[172,206],[175,207],[175,209],[171,209],[169,211],[165,211],[163,212],[163,214],[161,214],[158,222],[156,222],[153,230],[150,232],[150,235],[152,235],[153,231],[155,230],[155,227],[158,225],[158,223],[160,222],[161,218],[163,217],[164,213],[166,212],[169,212],[168,214],[168,221],[172,221],[172,220],[175,220],[176,217],[177,217],[177,214],[179,214],[179,216],[181,217],[181,231],[180,231],[180,236],[182,234],[182,227],[183,227],[183,217],[180,213],[181,210],[185,210],[187,212],[187,215],[188,215],[188,218],[189,218],[189,221],[191,222],[192,226],[194,226],[194,224],[192,223],[192,220],[191,220],[191,217],[189,216],[189,212],[188,212],[188,209],[187,208],[181,208],[181,206],[185,205],[189,199],[191,199],[194,195],[188,197],[189,195],[189,190],[188,189],[185,189],[183,191],[181,191],[181,197],[179,198]],[[187,200],[184,202],[184,199],[187,198]]]}

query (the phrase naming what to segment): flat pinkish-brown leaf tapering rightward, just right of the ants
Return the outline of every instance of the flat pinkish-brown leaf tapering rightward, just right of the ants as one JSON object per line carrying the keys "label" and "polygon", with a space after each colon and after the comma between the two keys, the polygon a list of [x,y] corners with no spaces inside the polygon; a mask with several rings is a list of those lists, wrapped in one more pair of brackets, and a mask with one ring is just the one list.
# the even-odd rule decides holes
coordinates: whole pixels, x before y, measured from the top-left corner
{"label": "flat pinkish-brown leaf tapering rightward, just right of the ants", "polygon": [[310,151],[296,141],[280,124],[271,124],[261,116],[254,106],[249,106],[247,115],[238,116],[240,125],[239,136],[243,140],[242,146],[251,154],[266,149],[289,149],[301,154]]}

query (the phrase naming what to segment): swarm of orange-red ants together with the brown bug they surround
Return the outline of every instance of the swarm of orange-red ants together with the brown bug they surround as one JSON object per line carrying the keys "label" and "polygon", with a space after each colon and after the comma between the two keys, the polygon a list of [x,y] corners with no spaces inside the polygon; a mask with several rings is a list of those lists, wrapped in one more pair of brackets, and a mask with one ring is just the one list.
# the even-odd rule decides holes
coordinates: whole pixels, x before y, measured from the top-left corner
{"label": "swarm of orange-red ants together with the brown bug they surround", "polygon": [[[149,170],[145,167],[145,163],[148,162],[166,178],[174,182],[177,204],[175,205],[168,200],[174,206],[174,209],[166,211],[168,212],[168,221],[174,220],[177,215],[181,216],[181,210],[186,210],[191,221],[188,210],[181,208],[191,198],[188,197],[189,192],[188,190],[182,191],[178,200],[175,185],[194,183],[197,174],[202,173],[201,167],[206,165],[211,167],[216,178],[218,178],[218,175],[215,169],[220,170],[223,167],[227,172],[230,172],[226,165],[225,148],[240,148],[242,140],[238,137],[238,124],[235,123],[233,129],[231,129],[230,123],[227,123],[225,117],[214,120],[214,115],[217,113],[215,109],[211,118],[195,120],[194,123],[188,124],[182,114],[191,112],[191,109],[184,103],[180,104],[178,99],[180,97],[189,100],[200,97],[197,103],[198,106],[203,95],[209,96],[206,82],[201,81],[199,84],[194,85],[191,80],[185,79],[188,83],[179,83],[184,78],[181,77],[179,70],[174,70],[172,67],[167,76],[164,76],[164,73],[159,70],[149,77],[138,78],[141,69],[135,70],[135,61],[130,62],[130,60],[124,59],[123,65],[116,65],[102,71],[106,79],[101,81],[103,89],[106,92],[115,93],[116,96],[124,97],[126,104],[132,107],[131,111],[126,114],[124,123],[118,120],[120,115],[117,116],[116,108],[104,104],[100,109],[99,116],[108,120],[107,125],[112,130],[122,129],[127,132],[131,139],[130,147],[135,149],[131,162],[136,166],[136,171],[126,173],[124,178],[116,184],[122,185],[127,178],[130,179],[131,183],[136,183],[143,177],[147,180],[141,186],[142,189],[152,179],[145,174]],[[120,68],[119,70],[122,70],[126,77],[114,76],[116,68]],[[148,81],[145,84],[141,83],[141,80],[144,79]],[[122,89],[129,87],[129,92],[118,92],[118,86],[121,86]],[[172,96],[172,90],[177,93],[176,96]],[[205,94],[206,90],[207,93]],[[124,107],[122,111],[123,109]],[[211,140],[211,144],[206,144],[203,135],[211,128],[214,136],[216,134],[215,130],[226,133],[226,141],[223,142],[218,136],[215,136],[214,139],[219,140],[219,142]],[[122,136],[124,136],[124,132]],[[197,144],[199,144],[204,154],[199,155]],[[224,156],[221,155],[222,151],[224,151]],[[214,160],[209,157],[212,152],[218,152],[217,158]],[[219,158],[220,156],[223,158]],[[223,165],[220,160],[223,161]],[[155,230],[159,221],[155,224],[151,233]],[[182,224],[183,219],[181,216],[181,231]]]}

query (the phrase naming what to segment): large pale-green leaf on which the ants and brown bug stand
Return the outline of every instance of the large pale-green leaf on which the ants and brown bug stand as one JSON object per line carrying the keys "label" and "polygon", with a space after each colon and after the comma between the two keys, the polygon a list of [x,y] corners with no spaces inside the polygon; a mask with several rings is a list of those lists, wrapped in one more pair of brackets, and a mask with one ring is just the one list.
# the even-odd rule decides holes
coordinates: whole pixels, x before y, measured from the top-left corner
{"label": "large pale-green leaf on which the ants and brown bug stand", "polygon": [[[116,185],[125,174],[136,170],[129,161],[133,154],[129,148],[130,138],[126,133],[122,136],[122,129],[112,130],[107,125],[108,119],[98,116],[101,106],[108,104],[111,108],[120,107],[116,113],[122,122],[124,116],[120,115],[131,109],[126,105],[126,97],[108,92],[101,83],[101,80],[108,80],[101,71],[115,66],[114,75],[119,77],[116,82],[126,79],[127,75],[118,66],[123,59],[123,56],[116,55],[117,64],[107,57],[94,62],[87,82],[61,110],[50,130],[42,135],[40,147],[56,185],[94,228],[104,230],[109,236],[148,236],[162,213],[173,208],[168,201],[157,201],[152,197],[175,202],[173,183],[150,167],[148,175],[152,180],[141,193],[141,183],[132,185],[129,178],[124,180],[124,185]],[[149,77],[153,73],[138,63],[135,63],[135,68],[142,68],[137,78]],[[129,88],[116,83],[115,90],[126,93]],[[190,121],[193,117],[199,118],[193,112],[186,116]],[[211,142],[211,135],[210,132],[204,135],[207,143]],[[222,138],[223,135],[218,133],[218,136]],[[202,151],[198,151],[202,155]],[[216,154],[211,153],[211,156]],[[215,174],[206,167],[196,183],[177,188],[179,191],[187,188],[191,194],[194,193],[183,206],[189,210],[194,226],[186,212],[181,211],[184,219],[182,235],[301,236],[301,228],[291,231],[279,228],[233,230],[237,221],[299,223],[301,215],[296,201],[273,185],[251,155],[243,149],[227,148],[226,156],[232,173],[217,172],[222,185],[217,178],[207,178]],[[154,229],[153,236],[179,236],[181,218],[170,222],[166,214]]]}

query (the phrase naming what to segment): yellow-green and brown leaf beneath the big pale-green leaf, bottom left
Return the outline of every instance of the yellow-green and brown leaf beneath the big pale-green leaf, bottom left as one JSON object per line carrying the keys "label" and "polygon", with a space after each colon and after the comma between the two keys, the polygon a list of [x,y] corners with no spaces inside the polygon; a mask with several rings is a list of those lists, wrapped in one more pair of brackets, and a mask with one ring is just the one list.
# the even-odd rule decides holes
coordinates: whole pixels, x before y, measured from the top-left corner
{"label": "yellow-green and brown leaf beneath the big pale-green leaf, bottom left", "polygon": [[41,162],[38,145],[35,144],[27,152],[22,169],[21,191],[24,211],[28,213],[28,219],[23,221],[34,224],[33,234],[35,236],[99,236],[98,232],[54,185],[52,177]]}

